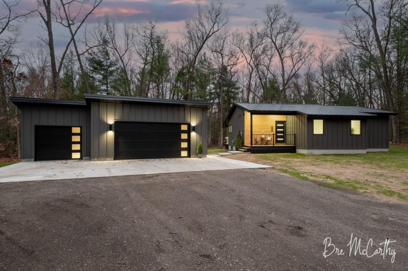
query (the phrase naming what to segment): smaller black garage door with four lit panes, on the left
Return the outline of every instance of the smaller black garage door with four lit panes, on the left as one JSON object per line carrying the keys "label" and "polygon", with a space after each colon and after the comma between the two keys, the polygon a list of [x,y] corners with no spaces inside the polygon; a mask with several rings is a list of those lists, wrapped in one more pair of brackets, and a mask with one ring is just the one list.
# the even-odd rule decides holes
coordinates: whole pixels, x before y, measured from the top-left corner
{"label": "smaller black garage door with four lit panes, on the left", "polygon": [[35,126],[35,160],[80,159],[81,127]]}

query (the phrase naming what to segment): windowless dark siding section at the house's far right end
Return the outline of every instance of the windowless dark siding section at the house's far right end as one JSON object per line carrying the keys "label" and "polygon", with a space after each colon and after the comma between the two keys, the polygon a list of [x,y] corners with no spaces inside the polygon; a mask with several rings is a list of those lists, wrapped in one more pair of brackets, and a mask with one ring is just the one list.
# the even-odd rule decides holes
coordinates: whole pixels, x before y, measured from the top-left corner
{"label": "windowless dark siding section at the house's far right end", "polygon": [[367,148],[389,148],[389,116],[367,119]]}

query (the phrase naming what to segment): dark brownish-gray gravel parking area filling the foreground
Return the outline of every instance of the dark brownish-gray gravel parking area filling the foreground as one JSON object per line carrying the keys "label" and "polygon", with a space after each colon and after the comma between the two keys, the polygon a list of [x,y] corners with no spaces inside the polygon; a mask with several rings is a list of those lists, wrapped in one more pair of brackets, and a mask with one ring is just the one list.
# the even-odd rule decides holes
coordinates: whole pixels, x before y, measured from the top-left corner
{"label": "dark brownish-gray gravel parking area filling the foreground", "polygon": [[0,270],[408,266],[407,205],[272,169],[1,183],[0,191]]}

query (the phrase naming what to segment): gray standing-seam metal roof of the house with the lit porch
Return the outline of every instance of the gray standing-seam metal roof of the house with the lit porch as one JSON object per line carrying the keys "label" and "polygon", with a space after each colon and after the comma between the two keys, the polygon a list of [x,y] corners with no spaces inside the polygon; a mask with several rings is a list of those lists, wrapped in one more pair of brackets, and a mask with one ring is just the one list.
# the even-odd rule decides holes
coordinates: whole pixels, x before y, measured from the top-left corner
{"label": "gray standing-seam metal roof of the house with the lit porch", "polygon": [[[307,116],[376,116],[378,114],[398,114],[396,112],[370,109],[359,106],[266,103],[235,103],[234,105],[252,113],[282,112],[303,114]],[[232,110],[234,110],[234,108]]]}

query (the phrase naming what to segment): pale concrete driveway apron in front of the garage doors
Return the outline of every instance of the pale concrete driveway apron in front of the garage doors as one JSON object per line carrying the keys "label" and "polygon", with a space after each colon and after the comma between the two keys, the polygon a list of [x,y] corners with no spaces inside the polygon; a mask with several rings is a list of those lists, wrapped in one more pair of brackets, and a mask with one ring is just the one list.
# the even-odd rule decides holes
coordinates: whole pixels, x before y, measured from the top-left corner
{"label": "pale concrete driveway apron in front of the garage doors", "polygon": [[217,155],[202,159],[35,161],[0,168],[0,183],[268,167]]}

